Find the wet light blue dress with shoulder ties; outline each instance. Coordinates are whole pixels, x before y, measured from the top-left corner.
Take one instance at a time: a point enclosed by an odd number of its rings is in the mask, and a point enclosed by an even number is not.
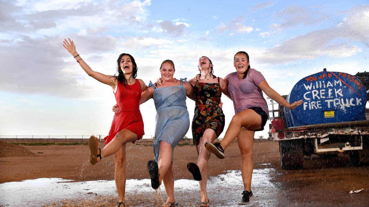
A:
[[[154,103],[156,108],[156,126],[154,141],[154,160],[158,162],[160,141],[165,141],[172,146],[172,162],[173,150],[180,140],[186,135],[190,127],[190,117],[187,111],[186,89],[183,87],[183,81],[180,79],[181,85],[156,88],[154,84]],[[187,81],[186,81],[187,82]],[[188,83],[188,82],[187,82]]]

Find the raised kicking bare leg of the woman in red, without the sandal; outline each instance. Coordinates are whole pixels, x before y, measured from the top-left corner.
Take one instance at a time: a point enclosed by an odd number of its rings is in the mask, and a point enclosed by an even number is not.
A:
[[[137,140],[137,134],[128,129],[123,129],[111,140],[103,149],[101,149],[101,157],[107,157],[117,152],[122,144]],[[99,160],[99,159],[98,159]]]

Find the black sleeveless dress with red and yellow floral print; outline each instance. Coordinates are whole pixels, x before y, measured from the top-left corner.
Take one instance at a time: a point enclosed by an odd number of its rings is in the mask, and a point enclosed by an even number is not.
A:
[[[195,113],[192,120],[192,137],[195,145],[200,144],[200,137],[206,129],[213,129],[217,137],[224,129],[224,113],[219,108],[222,89],[218,83],[199,83],[193,87]]]

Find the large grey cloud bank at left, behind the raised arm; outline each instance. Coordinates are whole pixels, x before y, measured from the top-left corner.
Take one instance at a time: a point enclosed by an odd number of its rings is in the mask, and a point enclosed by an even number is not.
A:
[[[117,43],[110,37],[74,35],[77,51],[84,60],[87,54],[115,49]],[[46,36],[32,39],[22,35],[19,40],[2,45],[0,88],[25,94],[49,94],[77,98],[86,95],[93,87],[84,84],[85,74],[73,57],[62,47],[62,37]],[[63,57],[68,57],[65,62]],[[79,73],[70,73],[74,68]],[[82,73],[81,73],[82,72]],[[83,78],[81,75],[83,74]]]

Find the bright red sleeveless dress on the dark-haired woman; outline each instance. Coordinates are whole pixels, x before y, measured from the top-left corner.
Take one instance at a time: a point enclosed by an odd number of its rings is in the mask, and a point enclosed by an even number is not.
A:
[[[134,84],[127,85],[128,88],[122,84],[118,84],[117,87],[114,95],[120,110],[113,117],[109,135],[104,138],[105,144],[108,144],[123,129],[128,129],[137,134],[137,140],[145,134],[144,121],[139,111],[141,84],[136,79]],[[135,141],[132,141],[132,143],[135,143]]]

